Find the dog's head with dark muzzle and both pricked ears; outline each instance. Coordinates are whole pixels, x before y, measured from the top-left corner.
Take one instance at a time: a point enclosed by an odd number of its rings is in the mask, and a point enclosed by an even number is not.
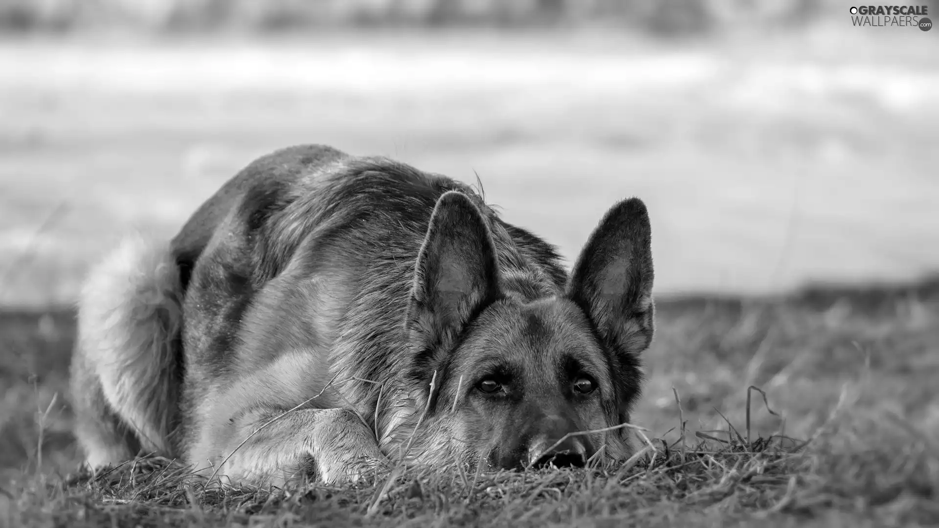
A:
[[[562,291],[508,295],[495,242],[465,194],[443,194],[408,308],[428,419],[491,467],[581,466],[629,454],[639,353],[653,336],[651,227],[638,198],[608,210]],[[433,381],[433,390],[430,389]],[[572,433],[609,429],[590,434]]]

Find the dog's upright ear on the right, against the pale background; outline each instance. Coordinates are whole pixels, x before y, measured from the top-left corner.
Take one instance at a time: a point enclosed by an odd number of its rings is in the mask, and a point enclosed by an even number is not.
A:
[[[654,332],[652,226],[639,198],[616,204],[593,230],[567,284],[567,296],[608,347],[638,354]]]

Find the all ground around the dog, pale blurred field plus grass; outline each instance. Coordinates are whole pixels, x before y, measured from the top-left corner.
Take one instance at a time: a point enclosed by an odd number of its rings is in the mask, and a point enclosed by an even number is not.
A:
[[[939,282],[792,292],[939,269],[939,62],[921,35],[857,35],[0,42],[0,525],[939,523]],[[304,142],[478,172],[568,257],[642,197],[659,302],[639,457],[289,496],[186,489],[159,459],[77,474],[89,262]]]

